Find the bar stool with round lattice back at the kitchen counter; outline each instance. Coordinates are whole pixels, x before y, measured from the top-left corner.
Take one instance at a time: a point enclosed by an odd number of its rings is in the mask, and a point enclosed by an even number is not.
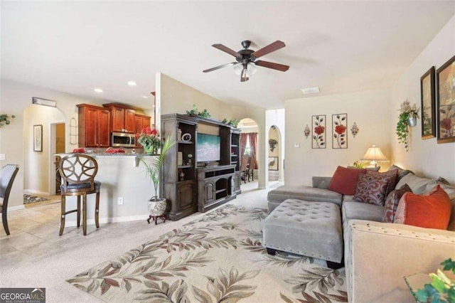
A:
[[[98,172],[98,163],[86,154],[70,154],[64,156],[58,163],[58,171],[62,178],[60,185],[62,195],[62,214],[60,217],[60,233],[65,229],[65,216],[77,212],[77,228],[80,227],[80,197],[82,196],[82,226],[84,235],[87,235],[87,194],[96,193],[95,225],[100,228],[98,213],[100,211],[100,186],[95,181]],[[77,196],[77,208],[66,211],[66,196]]]

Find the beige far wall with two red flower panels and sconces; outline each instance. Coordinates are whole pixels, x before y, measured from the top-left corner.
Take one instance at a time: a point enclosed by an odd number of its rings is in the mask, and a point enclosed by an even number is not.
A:
[[[332,115],[339,113],[348,114],[348,129],[354,122],[360,128],[355,138],[348,131],[348,149],[332,149]],[[326,115],[326,149],[311,149],[311,135],[304,136],[311,115]],[[389,129],[390,90],[287,100],[284,182],[310,185],[311,176],[332,176],[338,165],[353,164],[372,144],[390,159]]]

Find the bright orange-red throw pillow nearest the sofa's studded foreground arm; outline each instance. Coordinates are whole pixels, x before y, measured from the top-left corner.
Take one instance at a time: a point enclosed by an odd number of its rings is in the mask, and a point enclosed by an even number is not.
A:
[[[450,212],[449,195],[438,184],[426,195],[405,193],[398,203],[393,223],[447,229]]]

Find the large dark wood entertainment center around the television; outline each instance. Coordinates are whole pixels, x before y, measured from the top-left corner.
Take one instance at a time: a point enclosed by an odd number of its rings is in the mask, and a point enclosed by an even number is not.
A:
[[[241,193],[239,129],[214,119],[180,114],[162,115],[161,125],[162,137],[176,140],[166,154],[163,174],[170,220],[209,211]],[[219,161],[197,162],[198,126],[218,130]]]

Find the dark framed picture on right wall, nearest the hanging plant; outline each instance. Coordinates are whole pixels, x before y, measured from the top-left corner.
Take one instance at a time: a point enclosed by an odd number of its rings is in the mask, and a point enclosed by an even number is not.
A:
[[[436,115],[434,114],[434,66],[420,77],[420,100],[422,108],[422,139],[436,137]]]

